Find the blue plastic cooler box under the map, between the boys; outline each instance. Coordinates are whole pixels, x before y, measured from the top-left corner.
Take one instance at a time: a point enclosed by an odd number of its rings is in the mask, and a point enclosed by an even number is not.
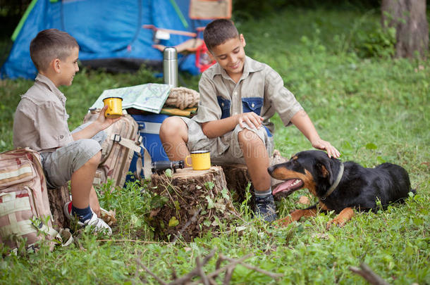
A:
[[[131,115],[133,119],[137,122],[137,125],[139,125],[139,132],[142,136],[142,142],[147,151],[149,152],[149,155],[152,158],[152,161],[159,161],[159,160],[168,160],[168,157],[166,155],[166,152],[164,151],[163,146],[161,145],[160,141],[160,127],[161,122],[163,122],[166,118],[168,118],[168,115],[161,115],[161,114],[152,114],[152,115]],[[133,156],[133,159],[131,160],[130,169],[128,171],[135,172],[136,171],[136,161],[137,161],[137,155],[135,154]],[[141,176],[143,177],[143,172],[141,173]],[[128,175],[127,180],[133,180],[133,178]]]

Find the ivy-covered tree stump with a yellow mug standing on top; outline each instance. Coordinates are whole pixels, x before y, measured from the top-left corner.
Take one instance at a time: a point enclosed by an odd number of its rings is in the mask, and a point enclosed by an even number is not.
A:
[[[161,239],[192,241],[207,232],[216,235],[219,222],[229,223],[239,216],[219,166],[178,169],[171,177],[154,174],[151,186],[154,196],[148,222]]]

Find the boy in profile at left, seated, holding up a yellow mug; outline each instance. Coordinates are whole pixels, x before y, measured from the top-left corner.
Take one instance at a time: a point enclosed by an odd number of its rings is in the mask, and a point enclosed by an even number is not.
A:
[[[67,217],[77,218],[82,227],[111,234],[109,225],[98,217],[100,205],[92,182],[102,158],[100,144],[106,137],[102,130],[116,120],[104,117],[106,106],[97,120],[69,131],[66,96],[58,87],[70,86],[79,70],[79,46],[70,34],[42,30],[32,39],[30,56],[39,73],[16,108],[13,145],[40,153],[49,188],[70,180],[72,202],[64,206]]]

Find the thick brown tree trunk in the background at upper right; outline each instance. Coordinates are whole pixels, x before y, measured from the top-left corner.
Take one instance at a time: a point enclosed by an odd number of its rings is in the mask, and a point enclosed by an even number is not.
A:
[[[429,49],[426,0],[382,0],[382,25],[395,27],[395,57],[421,58]]]

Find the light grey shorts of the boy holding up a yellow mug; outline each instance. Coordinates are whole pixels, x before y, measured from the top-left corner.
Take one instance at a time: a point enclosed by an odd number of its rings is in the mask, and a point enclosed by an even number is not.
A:
[[[87,122],[77,127],[73,132],[78,132],[90,123]],[[67,146],[57,148],[55,151],[41,153],[48,188],[54,189],[66,184],[71,179],[73,172],[102,149],[101,144],[105,139],[106,133],[102,131],[91,139],[78,139]]]

